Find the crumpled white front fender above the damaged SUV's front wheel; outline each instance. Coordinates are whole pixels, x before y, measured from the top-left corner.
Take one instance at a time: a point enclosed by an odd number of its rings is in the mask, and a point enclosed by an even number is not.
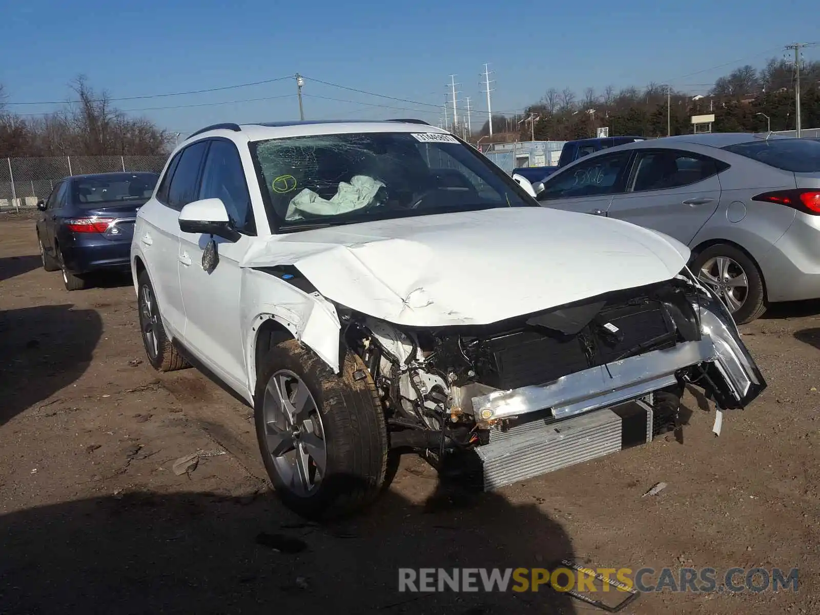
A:
[[[339,315],[335,306],[319,293],[308,294],[265,271],[244,268],[239,317],[246,341],[248,385],[256,386],[256,344],[259,327],[273,319],[294,338],[312,349],[339,373]]]

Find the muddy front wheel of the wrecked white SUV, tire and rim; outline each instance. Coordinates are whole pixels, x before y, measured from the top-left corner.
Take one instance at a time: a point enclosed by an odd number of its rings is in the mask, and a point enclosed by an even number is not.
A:
[[[260,365],[254,402],[262,460],[287,508],[328,520],[376,499],[385,484],[387,430],[358,356],[348,352],[336,375],[297,340],[277,344]]]

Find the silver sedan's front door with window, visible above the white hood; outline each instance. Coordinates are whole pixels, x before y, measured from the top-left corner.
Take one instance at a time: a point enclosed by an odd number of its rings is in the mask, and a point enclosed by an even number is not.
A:
[[[536,199],[544,207],[606,215],[614,194],[623,192],[631,151],[594,156],[557,171]]]

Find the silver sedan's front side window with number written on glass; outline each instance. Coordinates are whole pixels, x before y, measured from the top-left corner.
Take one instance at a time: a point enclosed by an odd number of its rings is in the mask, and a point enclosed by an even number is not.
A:
[[[623,175],[631,152],[611,153],[580,162],[566,171],[558,171],[544,182],[539,201],[555,198],[590,197],[622,192]]]

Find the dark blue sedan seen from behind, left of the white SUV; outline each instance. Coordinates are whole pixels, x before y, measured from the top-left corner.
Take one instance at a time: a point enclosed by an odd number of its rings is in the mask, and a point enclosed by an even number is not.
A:
[[[153,194],[156,173],[73,175],[37,203],[37,239],[46,271],[62,270],[67,290],[83,289],[88,274],[130,271],[137,209]]]

